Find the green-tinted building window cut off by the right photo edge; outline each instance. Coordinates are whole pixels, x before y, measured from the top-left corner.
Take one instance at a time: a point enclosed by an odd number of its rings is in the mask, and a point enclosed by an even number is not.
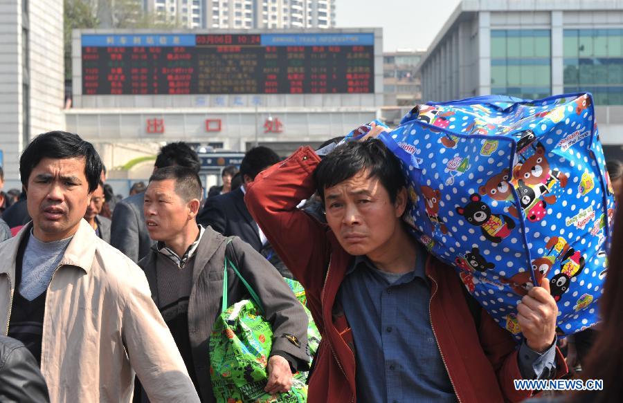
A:
[[[565,92],[590,92],[596,104],[623,105],[623,30],[564,30]]]

